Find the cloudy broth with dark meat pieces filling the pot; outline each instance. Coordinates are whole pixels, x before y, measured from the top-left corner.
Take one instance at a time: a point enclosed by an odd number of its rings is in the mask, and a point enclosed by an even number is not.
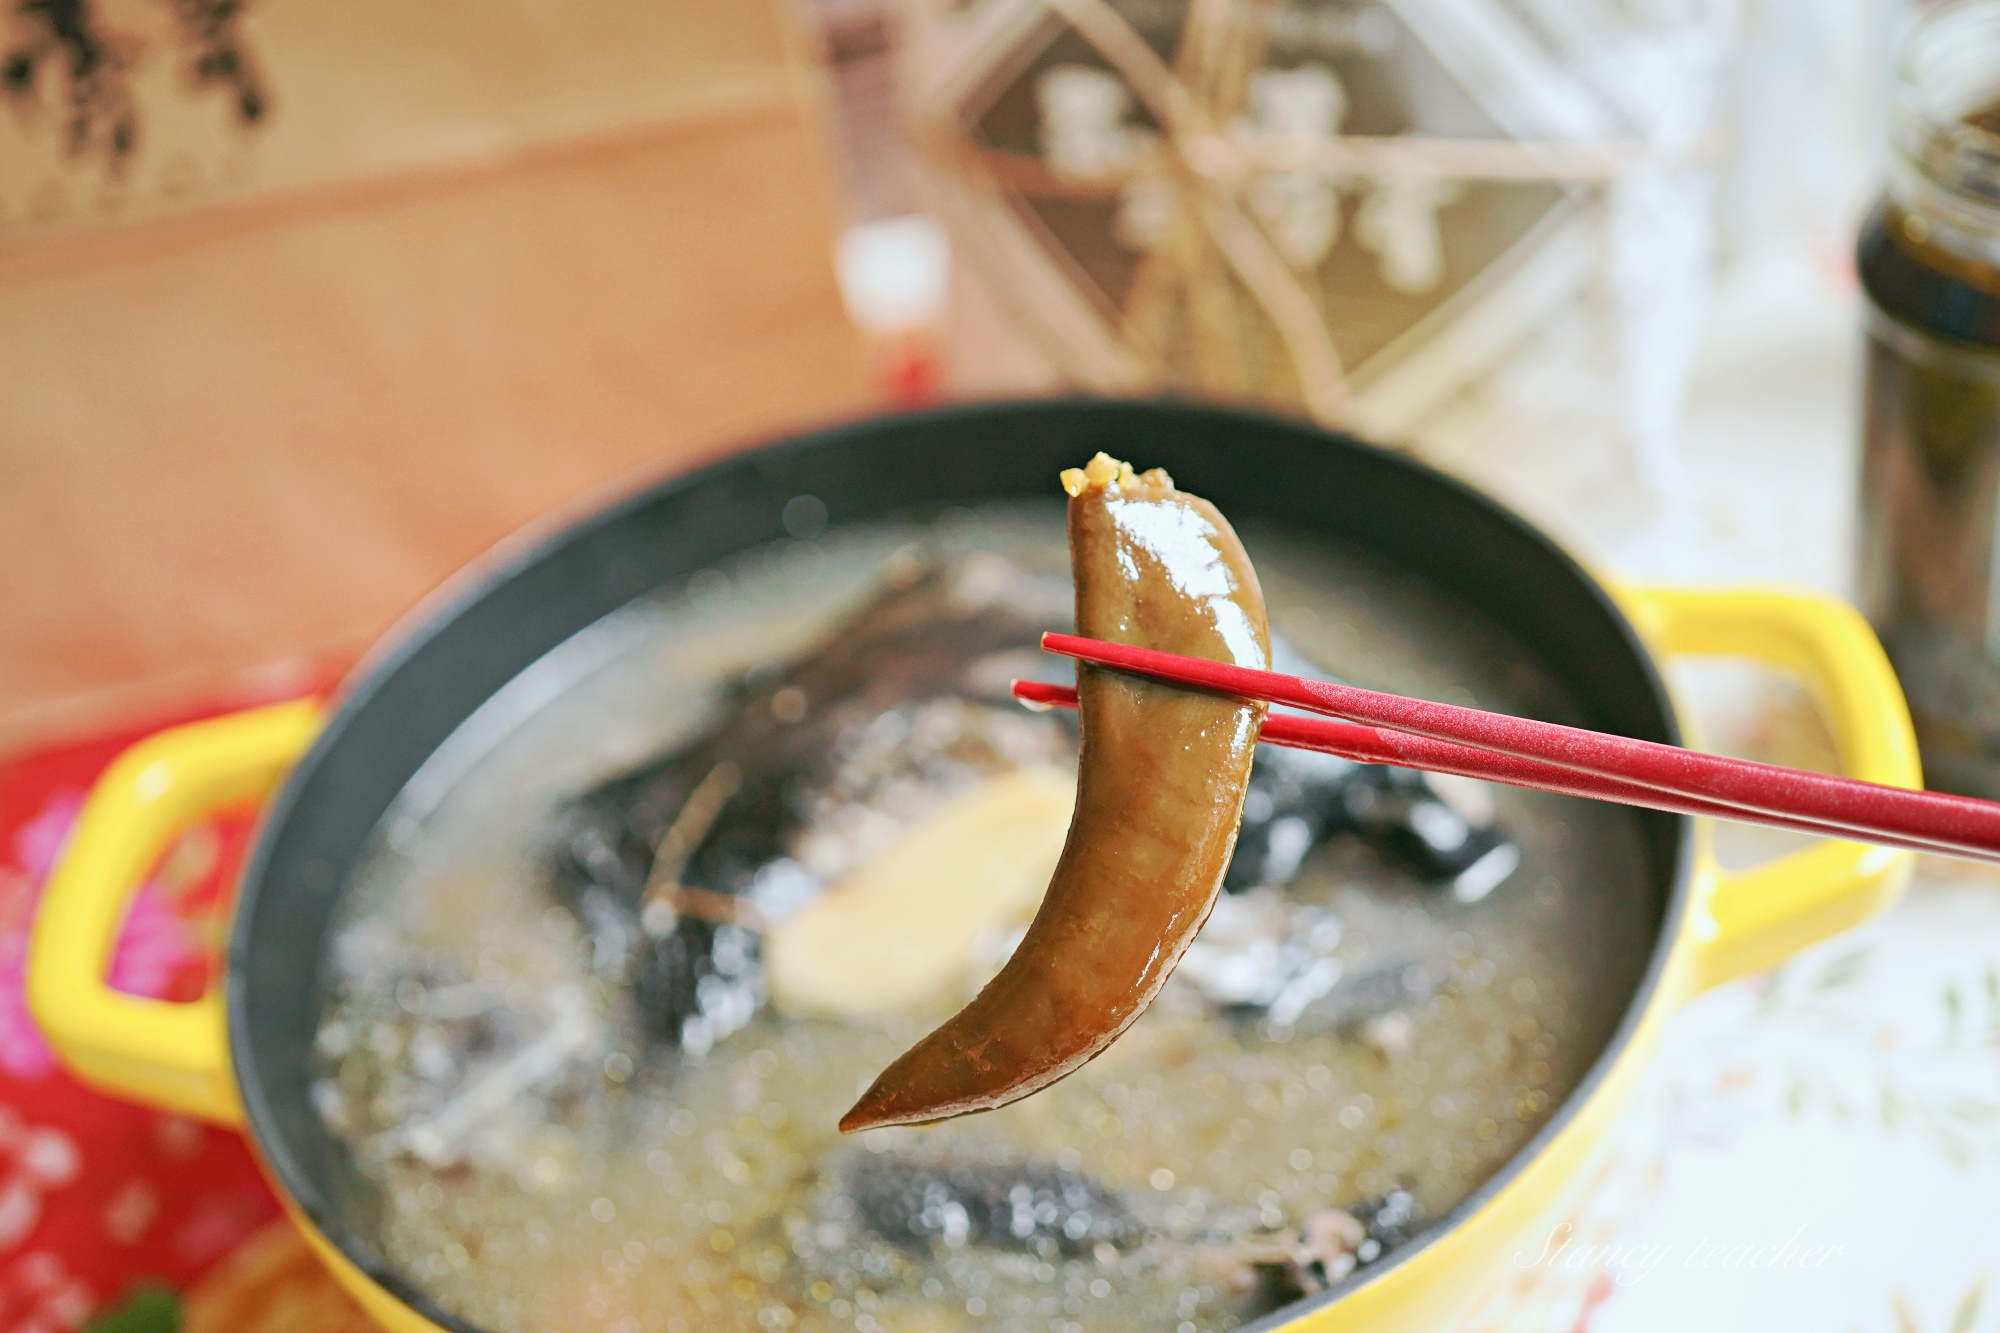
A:
[[[750,552],[552,652],[412,781],[342,907],[316,1097],[346,1215],[416,1289],[496,1333],[1226,1329],[1404,1243],[1574,1087],[1650,943],[1630,815],[1266,747],[1230,893],[1118,1045],[1002,1111],[836,1135],[1008,941],[826,1017],[770,1001],[764,931],[954,795],[1074,765],[1068,719],[1006,701],[1060,671],[1060,524]],[[1294,660],[1568,715],[1464,608],[1244,538]],[[1496,851],[1518,869],[1460,893]]]

